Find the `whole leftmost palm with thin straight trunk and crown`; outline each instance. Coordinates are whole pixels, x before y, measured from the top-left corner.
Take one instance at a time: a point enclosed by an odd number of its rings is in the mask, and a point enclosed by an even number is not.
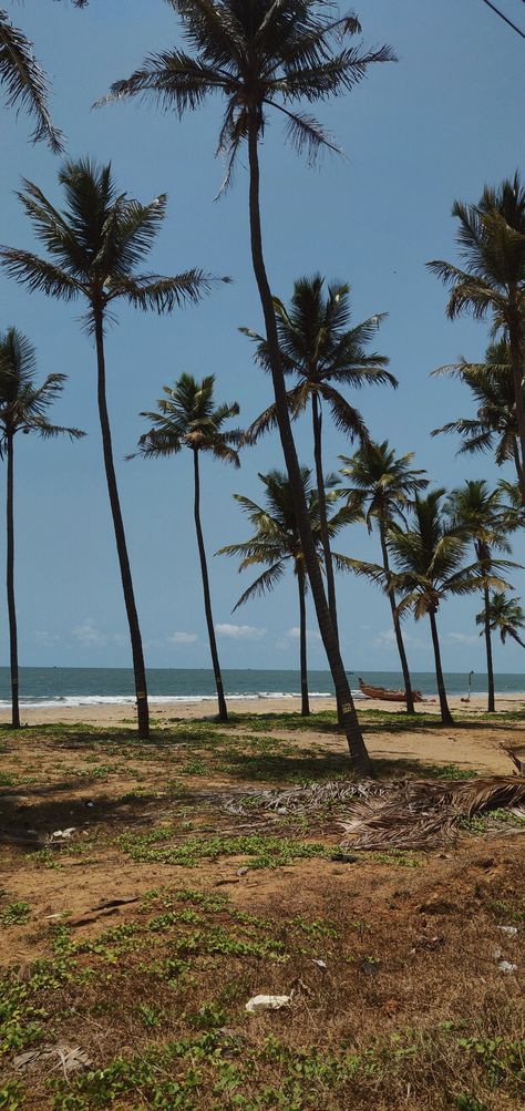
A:
[[[12,725],[20,727],[18,682],[17,608],[14,602],[14,437],[37,432],[42,439],[65,434],[71,440],[84,436],[78,428],[50,424],[47,410],[62,392],[65,374],[48,374],[34,382],[34,348],[16,328],[0,334],[0,458],[7,459],[7,591],[11,665]]]

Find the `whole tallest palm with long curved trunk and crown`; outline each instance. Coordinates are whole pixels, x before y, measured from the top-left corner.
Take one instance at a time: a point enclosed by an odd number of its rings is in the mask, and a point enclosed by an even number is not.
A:
[[[360,32],[354,14],[334,18],[319,0],[170,0],[180,16],[182,33],[194,53],[180,49],[150,56],[130,78],[117,81],[110,99],[139,96],[180,117],[199,108],[213,93],[226,101],[219,151],[228,158],[225,184],[236,154],[248,143],[250,168],[250,236],[252,263],[271,352],[271,374],[279,431],[292,488],[304,561],[317,621],[332,671],[344,728],[357,771],[372,774],[339,650],[324,592],[314,537],[293,441],[286,387],[271,286],[267,278],[261,226],[260,139],[270,109],[286,121],[287,138],[313,161],[324,147],[336,149],[331,137],[310,113],[293,106],[326,100],[350,91],[374,62],[394,60],[387,47],[366,51],[346,43]]]

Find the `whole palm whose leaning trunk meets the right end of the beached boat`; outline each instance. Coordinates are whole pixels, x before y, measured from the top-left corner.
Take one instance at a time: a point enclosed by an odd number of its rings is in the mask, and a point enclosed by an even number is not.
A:
[[[383,440],[382,443],[363,444],[350,459],[347,456],[340,456],[340,459],[346,464],[342,468],[341,473],[352,481],[351,489],[345,491],[349,496],[349,503],[360,506],[363,510],[366,508],[364,519],[368,532],[372,532],[374,522],[377,526],[383,570],[388,577],[391,571],[387,544],[388,529],[392,529],[396,522],[406,524],[405,512],[412,504],[413,498],[420,490],[424,490],[428,486],[428,479],[422,478],[426,472],[414,470],[411,467],[414,459],[413,451],[406,456],[396,456],[387,440]],[[405,684],[406,712],[415,713],[408,661],[394,590],[388,592],[388,600]]]

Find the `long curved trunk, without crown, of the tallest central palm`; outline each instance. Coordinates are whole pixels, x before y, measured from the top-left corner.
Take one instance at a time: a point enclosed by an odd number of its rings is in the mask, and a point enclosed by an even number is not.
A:
[[[258,133],[259,119],[255,110],[252,110],[249,120],[250,234],[253,270],[264,314],[266,340],[270,351],[272,381],[275,394],[275,413],[297,519],[301,546],[312,589],[315,612],[317,614],[319,628],[334,681],[335,695],[342,708],[343,729],[346,734],[350,754],[359,774],[372,775],[372,762],[363,741],[363,734],[361,732],[343,660],[341,659],[341,652],[339,650],[337,637],[332,625],[332,621],[330,620],[330,611],[324,593],[321,568],[319,564],[317,553],[315,551],[315,542],[312,536],[306,500],[304,498],[301,481],[301,470],[293,441],[292,427],[290,423],[286,388],[279,350],[275,312],[273,308],[272,292],[264,266],[262,248]]]

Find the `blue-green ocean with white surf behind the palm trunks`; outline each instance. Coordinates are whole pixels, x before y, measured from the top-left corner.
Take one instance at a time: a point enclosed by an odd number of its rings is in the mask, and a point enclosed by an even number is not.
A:
[[[400,671],[360,671],[363,679],[376,687],[402,687]],[[360,698],[357,672],[349,672],[353,693]],[[435,695],[435,677],[430,671],[412,673],[413,687],[423,694]],[[230,701],[254,698],[299,698],[299,671],[270,671],[249,669],[224,670],[223,682]],[[445,674],[448,694],[464,694],[467,675],[460,672]],[[333,694],[329,671],[310,671],[309,685],[312,698]],[[523,674],[495,675],[496,693],[525,691]],[[486,692],[486,674],[472,677],[473,693]],[[208,702],[215,698],[213,672],[203,669],[153,668],[148,672],[148,690],[155,702]],[[9,668],[0,668],[0,708],[10,705]],[[128,668],[21,668],[20,704],[22,707],[77,707],[133,703],[133,672]]]

